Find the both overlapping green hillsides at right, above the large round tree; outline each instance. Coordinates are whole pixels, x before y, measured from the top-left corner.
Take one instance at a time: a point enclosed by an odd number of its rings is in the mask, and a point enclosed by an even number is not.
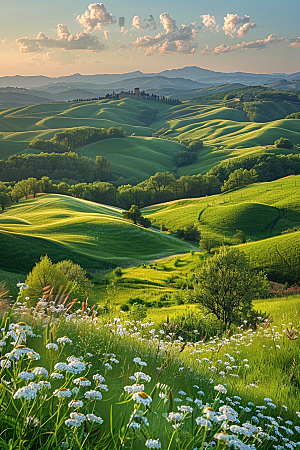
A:
[[[203,199],[154,205],[143,214],[173,231],[197,224],[203,235],[220,243],[235,244],[233,236],[242,230],[248,243],[241,249],[255,267],[264,268],[273,279],[298,281],[300,232],[281,233],[300,227],[299,186],[300,176],[293,176]]]

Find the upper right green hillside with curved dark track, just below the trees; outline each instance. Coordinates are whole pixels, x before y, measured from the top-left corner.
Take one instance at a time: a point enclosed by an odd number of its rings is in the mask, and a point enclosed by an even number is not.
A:
[[[240,229],[247,239],[258,240],[300,226],[299,186],[300,176],[293,176],[202,199],[149,206],[143,214],[170,230],[195,223],[222,239]]]

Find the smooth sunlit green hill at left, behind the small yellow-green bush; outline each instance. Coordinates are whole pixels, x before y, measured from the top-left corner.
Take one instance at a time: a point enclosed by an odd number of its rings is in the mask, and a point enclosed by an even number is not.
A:
[[[189,251],[174,237],[122,219],[119,208],[61,195],[20,203],[0,215],[1,268],[28,272],[41,255],[85,268],[130,264]]]

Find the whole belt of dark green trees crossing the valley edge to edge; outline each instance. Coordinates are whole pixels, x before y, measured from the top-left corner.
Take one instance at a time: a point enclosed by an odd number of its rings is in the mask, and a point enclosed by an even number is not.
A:
[[[74,172],[63,173],[65,175],[76,175],[81,169],[80,174],[83,181],[72,182],[68,181],[69,178],[67,177],[67,181],[61,179],[61,181],[56,182],[48,174],[40,178],[29,176],[14,181],[7,180],[11,173],[17,175],[24,173],[22,165],[16,165],[14,166],[15,172],[7,170],[4,180],[0,181],[0,207],[2,209],[13,202],[18,202],[21,198],[28,198],[31,195],[35,197],[39,192],[70,195],[97,203],[119,206],[124,209],[128,209],[131,205],[137,205],[141,208],[181,198],[219,194],[257,181],[273,181],[284,176],[300,174],[300,155],[269,153],[224,161],[205,175],[183,175],[176,178],[170,172],[157,172],[135,186],[122,184],[117,187],[116,183],[107,180],[110,176],[110,163],[106,158],[97,156],[96,162],[93,163],[89,158],[80,157],[77,153],[71,152],[12,156],[8,161],[0,161],[0,174],[5,173],[5,171],[1,172],[2,162],[8,163],[10,159],[18,161],[25,158],[26,160],[28,157],[33,157],[33,160],[44,157],[46,160],[48,157],[58,158],[56,160],[58,167],[59,163],[68,162],[68,158],[71,158],[72,161],[74,159],[78,165],[77,169],[74,169]],[[29,161],[31,161],[31,158],[29,158]],[[76,164],[74,165],[76,166]],[[84,167],[85,164],[86,167]],[[67,166],[68,164],[66,164]],[[50,170],[50,172],[59,175],[60,169]],[[40,173],[43,174],[44,171],[41,170]],[[90,179],[88,179],[87,174]]]

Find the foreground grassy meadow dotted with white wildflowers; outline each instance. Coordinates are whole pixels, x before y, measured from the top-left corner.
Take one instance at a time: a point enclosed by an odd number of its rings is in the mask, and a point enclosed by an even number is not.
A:
[[[273,317],[255,330],[185,343],[176,317],[157,323],[151,311],[141,322],[68,304],[50,313],[49,300],[34,313],[15,306],[1,323],[1,371],[13,381],[0,385],[3,448],[297,447],[299,346],[288,336],[299,333],[299,298],[258,301]]]

